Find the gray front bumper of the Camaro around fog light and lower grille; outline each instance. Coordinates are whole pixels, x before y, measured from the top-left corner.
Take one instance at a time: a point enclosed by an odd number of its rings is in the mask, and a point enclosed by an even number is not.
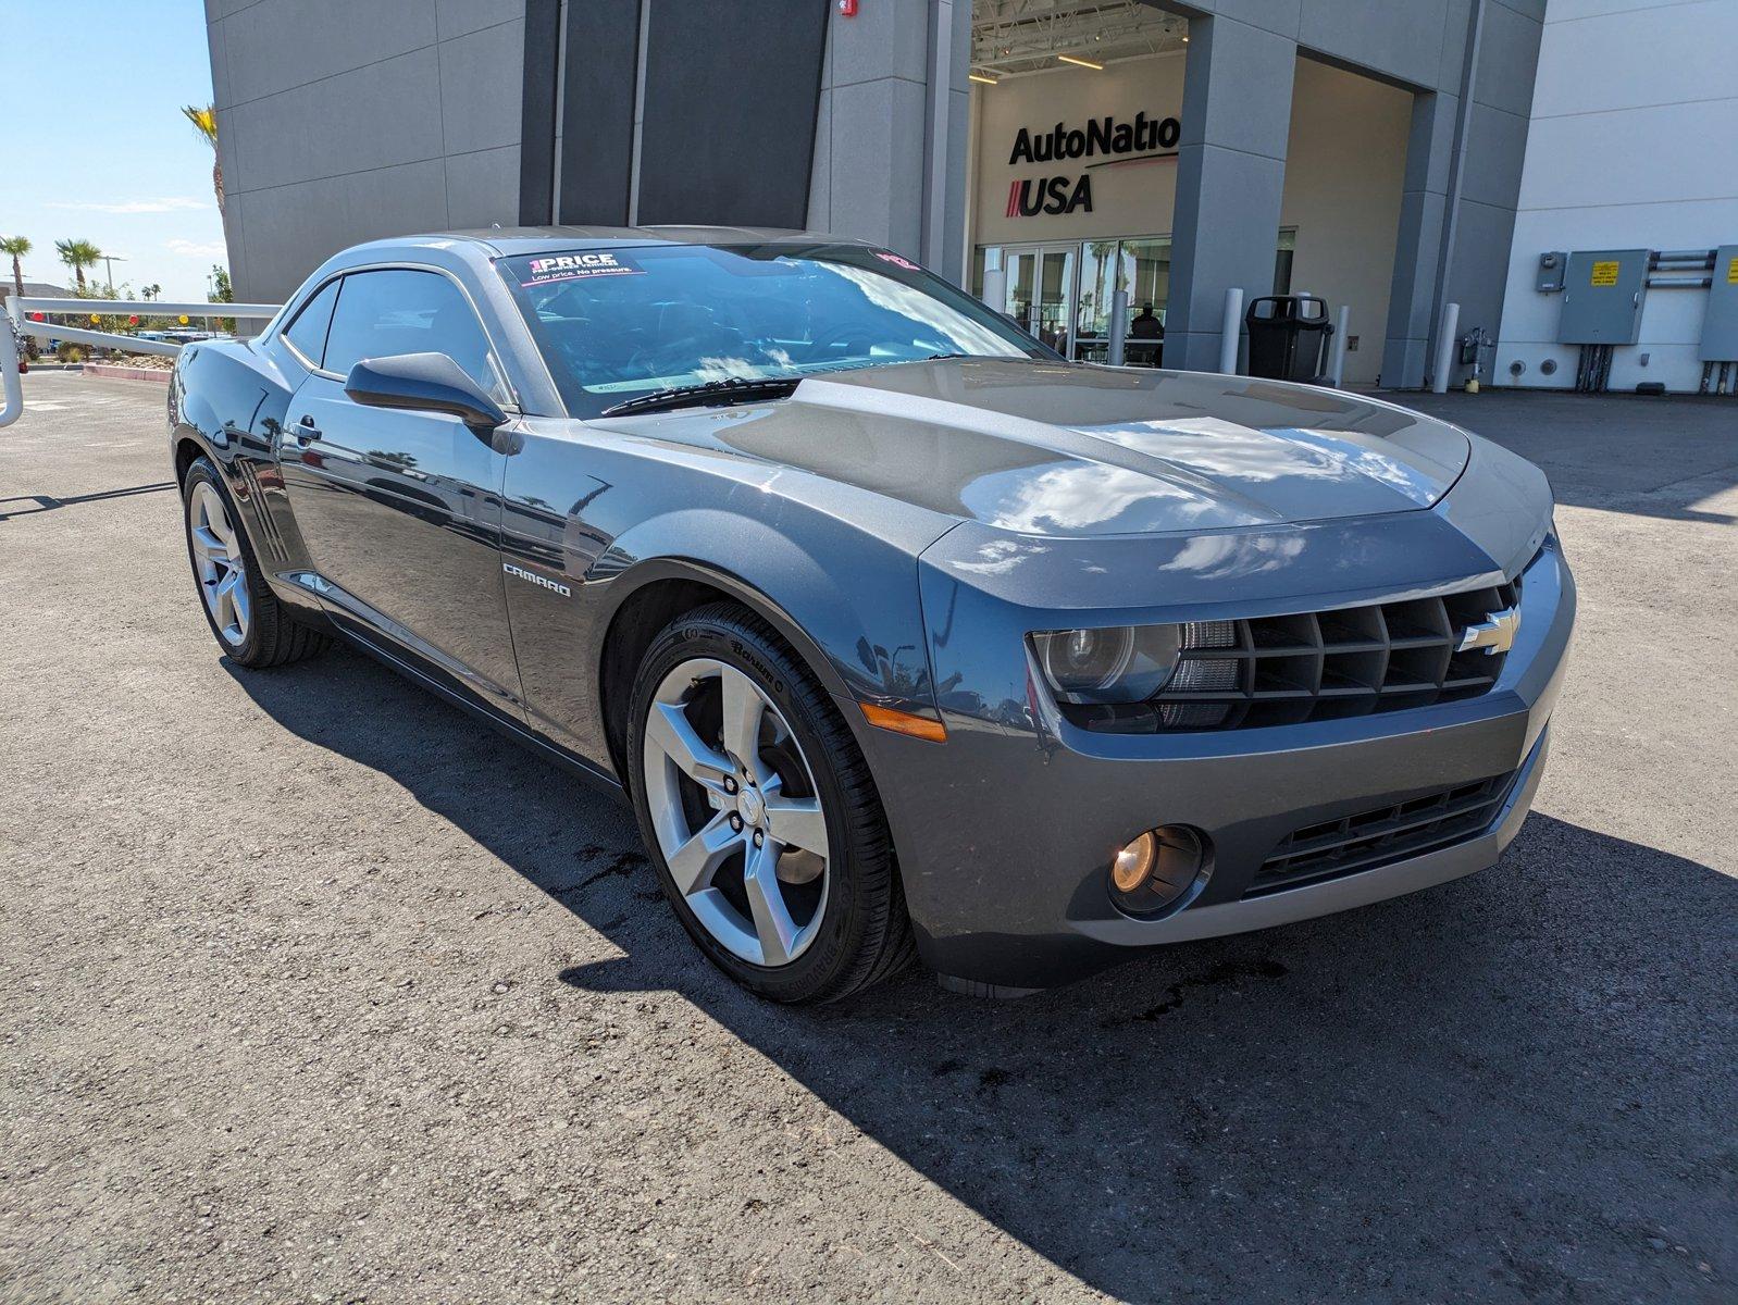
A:
[[[1575,622],[1556,540],[1526,570],[1522,624],[1486,695],[1415,711],[1222,733],[1098,735],[1053,712],[947,711],[945,745],[866,739],[918,945],[942,975],[999,989],[1085,977],[1131,949],[1309,919],[1491,865],[1521,829]],[[1017,693],[1027,692],[1018,686]],[[1293,831],[1514,773],[1483,829],[1420,855],[1246,895]],[[1211,839],[1182,909],[1135,919],[1107,865],[1142,829]]]

